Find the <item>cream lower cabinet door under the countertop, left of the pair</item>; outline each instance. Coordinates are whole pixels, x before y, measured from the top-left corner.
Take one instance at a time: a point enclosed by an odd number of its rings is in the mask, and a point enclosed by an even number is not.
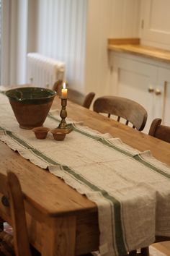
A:
[[[146,108],[148,120],[143,132],[148,133],[153,118],[161,117],[162,113],[162,94],[155,94],[155,88],[158,88],[158,67],[119,56],[114,56],[112,64],[115,94],[130,98]]]

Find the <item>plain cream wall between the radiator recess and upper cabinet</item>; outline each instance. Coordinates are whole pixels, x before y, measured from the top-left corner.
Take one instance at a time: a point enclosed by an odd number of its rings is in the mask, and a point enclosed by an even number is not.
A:
[[[89,0],[86,35],[84,88],[109,95],[108,38],[135,38],[139,35],[140,0]]]

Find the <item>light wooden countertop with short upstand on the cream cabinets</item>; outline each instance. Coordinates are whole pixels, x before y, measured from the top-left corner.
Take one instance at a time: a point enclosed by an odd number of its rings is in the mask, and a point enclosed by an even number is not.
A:
[[[109,38],[107,48],[111,51],[125,52],[170,64],[170,51],[143,46],[139,38]]]

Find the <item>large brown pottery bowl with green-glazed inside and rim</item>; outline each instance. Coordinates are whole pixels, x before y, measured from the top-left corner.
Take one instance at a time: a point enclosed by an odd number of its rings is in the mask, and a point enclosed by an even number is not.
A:
[[[23,129],[41,127],[44,123],[56,92],[47,88],[15,88],[6,91],[14,115]]]

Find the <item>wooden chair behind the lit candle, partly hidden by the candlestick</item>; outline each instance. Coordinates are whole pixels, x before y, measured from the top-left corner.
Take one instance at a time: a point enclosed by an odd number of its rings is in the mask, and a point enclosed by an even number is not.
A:
[[[53,85],[53,90],[55,90],[59,96],[61,95],[62,84],[63,81],[58,80]],[[95,93],[88,93],[87,95],[83,95],[82,93],[79,93],[77,90],[73,90],[71,88],[69,88],[68,90],[68,98],[74,103],[84,106],[84,108],[89,108],[91,106],[91,102],[93,101],[94,96]]]

